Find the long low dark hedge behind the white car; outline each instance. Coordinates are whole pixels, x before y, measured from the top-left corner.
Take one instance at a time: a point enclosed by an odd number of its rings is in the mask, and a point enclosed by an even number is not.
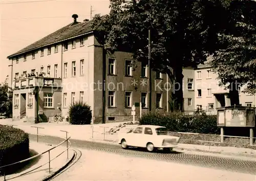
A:
[[[196,112],[194,115],[185,115],[183,112],[167,114],[149,112],[143,115],[139,122],[142,125],[165,126],[169,131],[174,132],[220,133],[220,128],[217,127],[217,116],[206,115],[204,111]]]

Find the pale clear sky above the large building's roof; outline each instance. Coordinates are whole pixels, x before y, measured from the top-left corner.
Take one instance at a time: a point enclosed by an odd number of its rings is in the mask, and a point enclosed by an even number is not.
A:
[[[10,74],[7,56],[70,24],[108,14],[109,0],[0,0],[0,82]]]

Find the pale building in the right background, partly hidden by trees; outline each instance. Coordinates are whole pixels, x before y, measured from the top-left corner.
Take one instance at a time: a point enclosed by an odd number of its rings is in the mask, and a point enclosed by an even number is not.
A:
[[[211,66],[207,62],[204,65],[198,65],[195,70],[195,108],[202,108],[209,114],[217,114],[216,108],[230,106],[228,95],[229,90],[219,86],[217,74],[211,71]],[[255,105],[254,95],[240,91],[239,100],[243,106]]]

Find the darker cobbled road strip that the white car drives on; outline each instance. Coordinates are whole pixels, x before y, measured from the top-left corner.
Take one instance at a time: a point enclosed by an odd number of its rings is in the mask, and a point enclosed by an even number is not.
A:
[[[36,135],[30,135],[30,139],[36,141]],[[39,136],[39,142],[57,145],[63,139],[51,136]],[[90,141],[70,140],[72,148],[102,151],[106,153],[115,153],[124,156],[142,157],[151,160],[159,160],[173,163],[181,163],[187,165],[194,165],[206,168],[215,168],[227,171],[236,171],[241,173],[256,173],[256,161],[246,161],[238,159],[230,159],[227,157],[187,154],[182,152],[146,152],[138,149],[122,149],[119,145],[108,143],[97,143]]]

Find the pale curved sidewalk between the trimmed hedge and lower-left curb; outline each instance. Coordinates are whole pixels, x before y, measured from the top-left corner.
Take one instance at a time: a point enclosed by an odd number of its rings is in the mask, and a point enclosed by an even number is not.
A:
[[[53,145],[54,146],[54,145]],[[33,153],[33,156],[39,153],[42,153],[44,151],[49,150],[53,146],[46,145],[45,143],[37,143],[37,142],[32,142],[30,141],[30,152]],[[57,155],[59,155],[62,151],[66,149],[66,146],[60,145],[57,148],[54,148],[53,150],[50,151],[50,159],[54,159]],[[22,170],[18,171],[18,173],[14,173],[11,175],[6,175],[6,179],[11,179],[11,180],[42,180],[56,171],[58,171],[60,168],[65,166],[73,157],[74,151],[69,149],[69,159],[67,159],[67,152],[62,153],[59,155],[56,159],[51,161],[50,163],[50,173],[49,173],[49,163],[46,164],[49,161],[49,153],[42,154],[41,156],[33,159],[30,161],[29,164],[25,166]],[[46,164],[46,165],[44,165]],[[30,170],[33,170],[41,165],[44,165],[32,172],[29,172],[27,174],[24,174]],[[18,176],[20,174],[24,174],[22,176],[13,178],[15,176]],[[4,180],[4,176],[0,176],[0,180]]]

